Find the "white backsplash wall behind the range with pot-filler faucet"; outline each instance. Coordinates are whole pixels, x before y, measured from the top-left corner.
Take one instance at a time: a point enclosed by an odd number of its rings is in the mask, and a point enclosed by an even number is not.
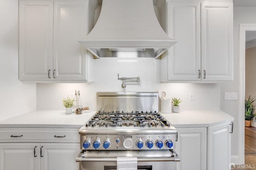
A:
[[[220,85],[196,83],[160,83],[160,60],[154,58],[100,58],[94,60],[94,83],[38,83],[37,109],[61,109],[62,99],[80,90],[82,105],[96,110],[96,92],[123,91],[120,77],[140,77],[127,91],[166,91],[166,97],[183,101],[180,109],[220,109]],[[189,101],[189,93],[195,100]]]

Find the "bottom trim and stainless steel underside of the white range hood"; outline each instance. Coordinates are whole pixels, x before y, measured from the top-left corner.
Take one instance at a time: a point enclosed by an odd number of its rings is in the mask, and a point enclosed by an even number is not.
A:
[[[155,57],[158,58],[177,41],[150,40],[80,40],[97,58],[99,57]]]

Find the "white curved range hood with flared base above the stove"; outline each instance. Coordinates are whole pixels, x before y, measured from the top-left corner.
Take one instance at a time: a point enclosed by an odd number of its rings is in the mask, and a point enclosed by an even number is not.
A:
[[[85,40],[95,57],[159,57],[177,41],[160,26],[152,0],[103,0]]]

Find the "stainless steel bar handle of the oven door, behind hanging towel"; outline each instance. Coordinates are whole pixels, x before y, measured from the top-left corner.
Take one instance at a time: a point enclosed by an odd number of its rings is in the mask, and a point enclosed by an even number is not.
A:
[[[116,158],[85,158],[86,150],[82,150],[80,154],[81,157],[76,158],[76,162],[116,162]],[[138,162],[162,162],[162,161],[172,161],[172,162],[180,162],[180,157],[175,152],[175,150],[170,150],[172,157],[168,158],[137,158]],[[79,155],[80,155],[79,154]],[[78,155],[78,156],[79,156]]]

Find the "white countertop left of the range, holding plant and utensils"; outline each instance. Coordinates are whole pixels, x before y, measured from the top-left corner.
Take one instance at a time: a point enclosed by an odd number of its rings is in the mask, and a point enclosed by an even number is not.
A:
[[[96,111],[66,114],[62,110],[37,110],[0,121],[0,127],[80,128]]]

